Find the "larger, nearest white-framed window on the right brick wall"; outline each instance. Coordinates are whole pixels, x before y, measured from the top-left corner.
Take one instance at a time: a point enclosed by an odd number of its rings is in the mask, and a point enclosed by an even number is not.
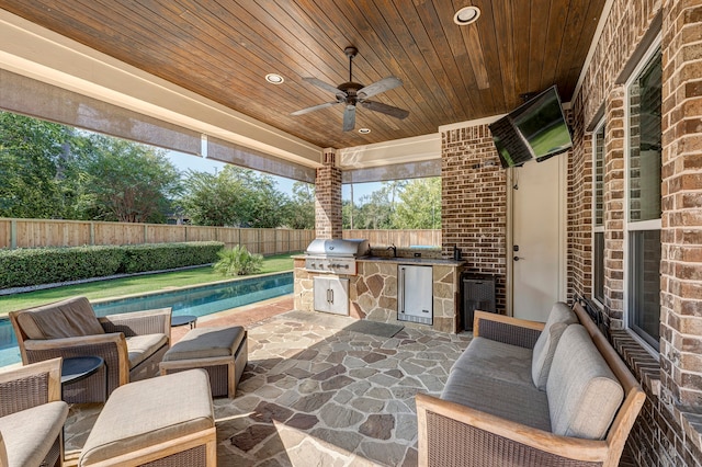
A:
[[[659,44],[626,84],[626,326],[655,350],[660,339],[663,66]]]

